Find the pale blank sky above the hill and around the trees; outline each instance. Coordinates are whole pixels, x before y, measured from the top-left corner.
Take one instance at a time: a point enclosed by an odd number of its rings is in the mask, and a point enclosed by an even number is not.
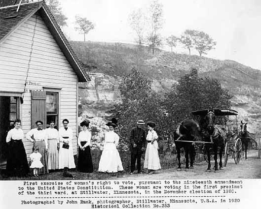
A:
[[[75,15],[95,24],[86,40],[133,43],[135,34],[128,23],[129,14],[148,8],[150,0],[60,0],[68,27],[63,30],[71,40],[83,41],[75,31]],[[163,4],[163,37],[180,36],[186,29],[208,33],[216,49],[206,57],[235,60],[261,69],[261,1],[260,0],[159,0]],[[164,47],[170,50],[169,47]],[[188,53],[181,46],[177,53]],[[198,55],[196,51],[191,54]]]

